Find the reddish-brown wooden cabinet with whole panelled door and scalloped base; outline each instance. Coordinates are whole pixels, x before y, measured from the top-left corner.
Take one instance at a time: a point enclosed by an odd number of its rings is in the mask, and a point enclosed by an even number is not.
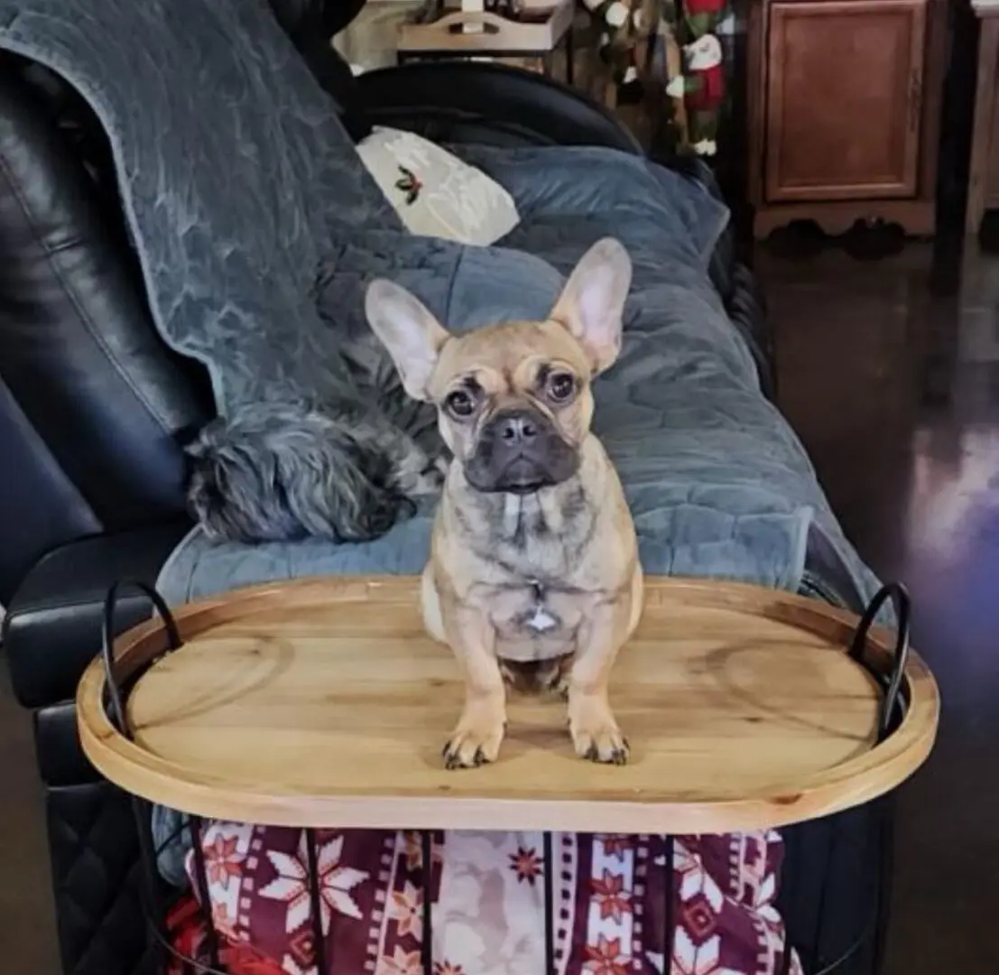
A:
[[[750,202],[795,219],[934,227],[942,0],[761,0],[749,23]]]

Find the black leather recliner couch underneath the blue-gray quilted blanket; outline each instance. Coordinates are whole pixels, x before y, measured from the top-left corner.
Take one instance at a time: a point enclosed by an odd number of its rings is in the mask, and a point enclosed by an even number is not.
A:
[[[355,79],[328,39],[362,4],[272,0],[355,135],[378,122],[453,142],[640,151],[602,108],[513,69],[413,65]],[[14,689],[35,714],[62,965],[135,975],[149,955],[131,811],[82,754],[72,698],[99,647],[107,587],[155,579],[190,524],[181,445],[212,402],[201,368],[153,327],[96,119],[61,79],[7,54],[0,269],[0,603]],[[712,273],[739,327],[758,332],[730,240]],[[765,376],[765,342],[754,348]],[[148,612],[127,598],[119,624]]]

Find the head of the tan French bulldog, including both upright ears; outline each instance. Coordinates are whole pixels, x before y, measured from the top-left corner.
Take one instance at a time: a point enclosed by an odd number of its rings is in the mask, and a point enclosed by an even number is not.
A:
[[[620,348],[631,264],[597,242],[543,322],[452,336],[409,292],[369,286],[366,312],[410,396],[434,403],[441,434],[481,491],[530,493],[571,478],[593,414],[592,378]]]

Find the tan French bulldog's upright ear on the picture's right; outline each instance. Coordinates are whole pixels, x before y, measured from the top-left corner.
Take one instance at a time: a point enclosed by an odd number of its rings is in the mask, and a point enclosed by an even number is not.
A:
[[[621,347],[621,317],[631,287],[631,259],[612,237],[597,241],[572,270],[551,310],[582,346],[600,373],[617,358]]]

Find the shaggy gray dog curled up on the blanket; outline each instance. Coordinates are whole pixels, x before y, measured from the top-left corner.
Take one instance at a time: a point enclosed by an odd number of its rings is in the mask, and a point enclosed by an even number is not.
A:
[[[362,329],[338,344],[330,396],[248,404],[187,448],[188,501],[209,537],[363,541],[439,492],[436,414],[406,395],[384,347]]]

